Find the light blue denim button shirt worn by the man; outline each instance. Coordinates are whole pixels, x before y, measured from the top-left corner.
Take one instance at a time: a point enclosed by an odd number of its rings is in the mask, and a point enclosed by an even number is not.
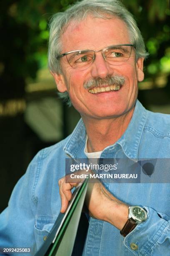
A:
[[[65,176],[65,158],[86,158],[85,141],[80,119],[70,136],[35,156],[0,215],[0,247],[30,247],[31,255],[40,248],[60,212],[58,180]],[[125,133],[101,157],[170,158],[170,115],[152,113],[137,101]],[[170,183],[104,185],[122,202],[145,207],[148,218],[125,238],[110,223],[89,218],[83,256],[170,255]]]

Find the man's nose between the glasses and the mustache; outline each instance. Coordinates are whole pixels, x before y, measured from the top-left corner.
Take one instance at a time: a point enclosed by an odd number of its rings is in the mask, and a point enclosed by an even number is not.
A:
[[[105,61],[102,53],[95,54],[95,60],[91,66],[92,77],[105,78],[112,73],[113,71],[110,70],[109,64]]]

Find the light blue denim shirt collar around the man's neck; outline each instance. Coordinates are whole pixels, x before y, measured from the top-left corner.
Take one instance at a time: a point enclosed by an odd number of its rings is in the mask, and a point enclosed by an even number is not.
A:
[[[116,144],[119,144],[122,147],[122,150],[125,153],[125,155],[128,158],[133,159],[135,161],[138,161],[138,148],[143,128],[145,125],[146,116],[147,110],[137,100],[135,110],[133,112],[133,117],[130,120],[128,128],[126,129],[125,133],[121,136],[121,138],[116,142]],[[80,157],[80,149],[84,149],[85,141],[85,125],[82,122],[82,119],[80,119],[74,131],[65,143],[64,150],[66,154],[68,154],[72,158]]]

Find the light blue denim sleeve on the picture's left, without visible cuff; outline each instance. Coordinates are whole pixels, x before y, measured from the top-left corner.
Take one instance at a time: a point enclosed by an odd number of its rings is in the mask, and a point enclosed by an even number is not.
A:
[[[15,185],[8,207],[0,214],[0,248],[27,247],[30,248],[31,255],[36,251],[34,237],[36,199],[33,195],[36,169],[37,156],[28,166],[25,175]],[[10,253],[10,255],[17,255],[17,253]]]

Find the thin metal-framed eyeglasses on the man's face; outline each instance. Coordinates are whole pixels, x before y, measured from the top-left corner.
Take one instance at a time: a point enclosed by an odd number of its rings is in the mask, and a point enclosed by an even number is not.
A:
[[[128,61],[132,51],[133,44],[119,44],[105,47],[102,51],[102,56],[111,65],[121,65],[124,61]],[[95,52],[93,50],[77,50],[68,51],[58,55],[60,59],[66,56],[68,63],[75,69],[86,69],[95,61]]]

